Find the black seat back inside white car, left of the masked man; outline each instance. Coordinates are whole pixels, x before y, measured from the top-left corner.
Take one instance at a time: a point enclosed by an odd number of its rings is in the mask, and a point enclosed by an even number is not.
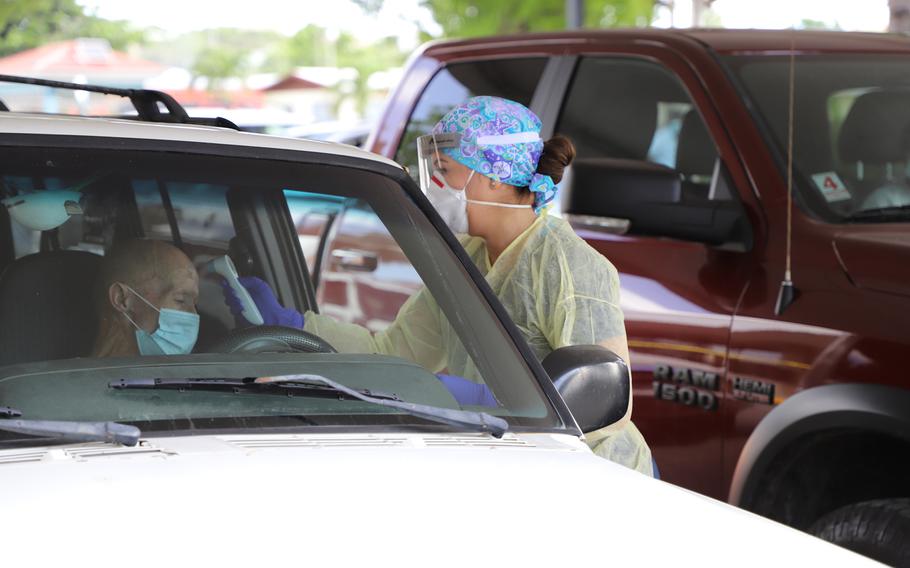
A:
[[[101,257],[82,251],[24,256],[0,275],[0,364],[88,355]]]

